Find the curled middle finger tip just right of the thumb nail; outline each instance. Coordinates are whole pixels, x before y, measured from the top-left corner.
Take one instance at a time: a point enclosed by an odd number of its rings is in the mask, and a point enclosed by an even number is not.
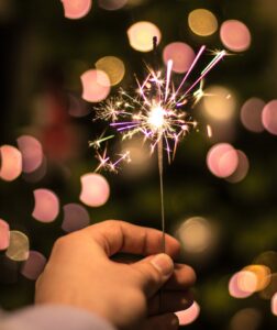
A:
[[[186,290],[196,283],[196,272],[188,265],[174,264],[173,276],[165,284],[168,290]]]

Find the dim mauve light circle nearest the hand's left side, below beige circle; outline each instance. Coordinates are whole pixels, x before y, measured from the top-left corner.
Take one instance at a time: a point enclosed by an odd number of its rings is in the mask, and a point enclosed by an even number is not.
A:
[[[42,274],[45,264],[46,257],[42,253],[31,250],[27,260],[22,265],[21,274],[31,280],[36,280]]]

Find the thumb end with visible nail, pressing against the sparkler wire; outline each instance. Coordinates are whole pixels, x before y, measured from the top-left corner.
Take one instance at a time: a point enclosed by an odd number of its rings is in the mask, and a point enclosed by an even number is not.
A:
[[[132,266],[138,273],[138,285],[147,298],[152,297],[174,272],[174,262],[165,253],[145,257]]]

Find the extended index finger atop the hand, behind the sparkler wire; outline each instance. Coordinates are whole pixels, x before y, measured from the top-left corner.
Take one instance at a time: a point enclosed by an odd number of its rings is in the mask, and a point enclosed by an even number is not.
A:
[[[141,255],[160,252],[163,233],[156,229],[138,227],[123,221],[108,220],[82,230],[89,233],[108,256],[118,252]],[[166,253],[173,258],[179,254],[180,245],[176,239],[166,234]]]

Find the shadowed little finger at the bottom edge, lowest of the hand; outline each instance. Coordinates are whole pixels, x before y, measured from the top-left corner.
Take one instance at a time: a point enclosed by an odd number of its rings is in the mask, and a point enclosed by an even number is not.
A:
[[[166,314],[148,318],[141,327],[142,330],[177,330],[179,321],[175,314]]]

